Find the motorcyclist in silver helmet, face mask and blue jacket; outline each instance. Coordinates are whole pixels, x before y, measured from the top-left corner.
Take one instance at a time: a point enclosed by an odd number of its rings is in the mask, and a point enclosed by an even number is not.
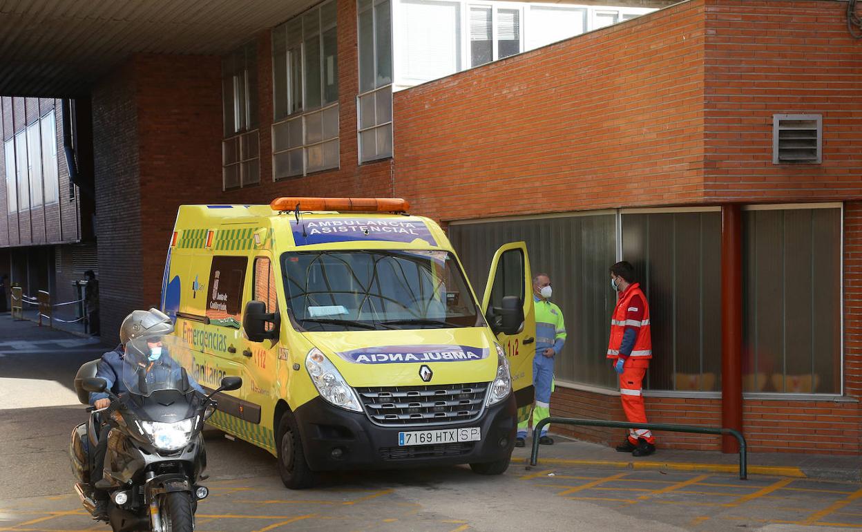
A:
[[[120,326],[120,344],[102,355],[102,360],[99,360],[97,366],[96,377],[105,379],[107,383],[105,392],[92,392],[90,394],[90,404],[101,410],[110,405],[109,394],[110,390],[114,395],[120,395],[128,391],[122,379],[123,364],[127,356],[129,342],[136,338],[146,337],[147,353],[134,353],[135,360],[145,357],[151,366],[158,364],[162,371],[179,372],[181,366],[176,360],[173,360],[170,354],[167,354],[166,349],[162,346],[160,337],[170,335],[173,332],[173,323],[171,318],[166,314],[156,309],[150,310],[134,310],[126,316]],[[141,342],[136,342],[135,345]],[[196,391],[204,393],[203,388],[197,384],[195,379],[188,375],[188,381],[192,388]],[[91,474],[91,483],[95,488],[96,498],[96,518],[108,518],[108,491],[110,487],[108,480],[103,479],[105,451],[108,448],[108,434],[110,426],[103,421],[99,432],[98,445],[96,452],[93,455],[93,473]]]

